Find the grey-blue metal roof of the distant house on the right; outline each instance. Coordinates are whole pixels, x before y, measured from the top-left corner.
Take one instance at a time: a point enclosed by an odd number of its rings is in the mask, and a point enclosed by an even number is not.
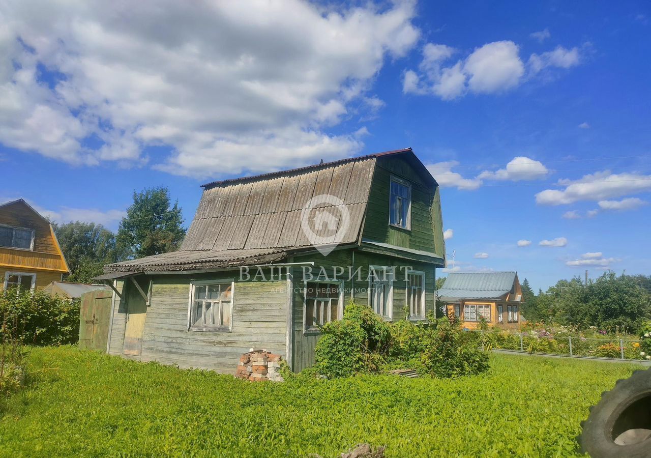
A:
[[[442,302],[460,299],[499,300],[510,293],[516,272],[452,272],[436,294]]]

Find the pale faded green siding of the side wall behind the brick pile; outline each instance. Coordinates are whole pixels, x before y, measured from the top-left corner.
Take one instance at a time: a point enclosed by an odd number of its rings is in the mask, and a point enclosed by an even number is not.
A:
[[[251,347],[285,355],[288,293],[286,279],[238,281],[239,272],[201,276],[151,276],[151,305],[147,308],[142,361],[201,367],[234,373],[238,360]],[[235,279],[232,332],[188,330],[191,279]],[[116,304],[111,353],[122,352],[124,313]]]

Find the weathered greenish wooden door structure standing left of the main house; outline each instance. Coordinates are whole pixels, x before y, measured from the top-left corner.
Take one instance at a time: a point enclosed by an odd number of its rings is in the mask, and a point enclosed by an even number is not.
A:
[[[112,297],[111,291],[104,290],[81,294],[79,347],[106,351]]]

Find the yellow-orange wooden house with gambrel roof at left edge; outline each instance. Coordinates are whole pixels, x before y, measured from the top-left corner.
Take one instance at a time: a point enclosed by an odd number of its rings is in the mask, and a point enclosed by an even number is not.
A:
[[[23,199],[0,203],[0,288],[43,289],[69,273],[49,221]]]

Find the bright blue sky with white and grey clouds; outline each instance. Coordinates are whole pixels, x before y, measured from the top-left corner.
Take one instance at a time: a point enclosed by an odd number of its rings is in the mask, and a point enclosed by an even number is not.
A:
[[[0,7],[0,200],[116,229],[165,185],[189,223],[210,179],[412,147],[456,269],[651,273],[646,2],[37,3]]]

